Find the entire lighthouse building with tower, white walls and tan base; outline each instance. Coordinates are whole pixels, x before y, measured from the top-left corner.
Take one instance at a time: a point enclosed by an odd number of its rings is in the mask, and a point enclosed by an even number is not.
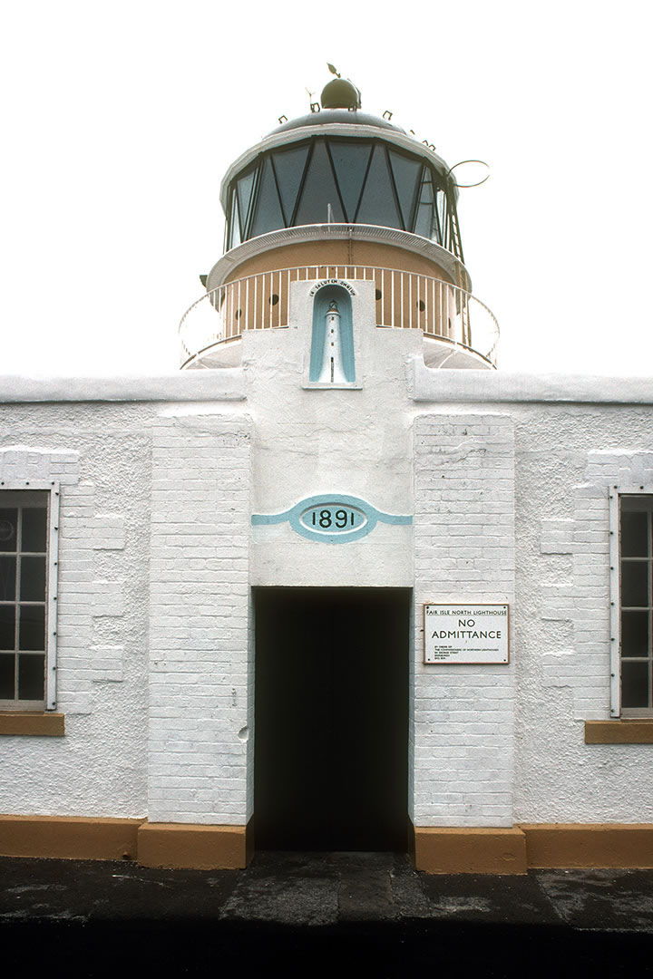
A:
[[[646,866],[653,382],[497,371],[455,167],[309,108],[181,370],[2,379],[0,851]]]

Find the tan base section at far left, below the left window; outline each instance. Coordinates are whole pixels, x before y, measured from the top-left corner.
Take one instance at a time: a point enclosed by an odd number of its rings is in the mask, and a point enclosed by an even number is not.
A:
[[[133,860],[141,819],[0,816],[3,857]]]

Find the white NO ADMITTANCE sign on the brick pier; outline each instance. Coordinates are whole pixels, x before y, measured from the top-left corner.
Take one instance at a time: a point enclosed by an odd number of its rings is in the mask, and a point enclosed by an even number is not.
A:
[[[508,663],[508,606],[424,606],[425,663]]]

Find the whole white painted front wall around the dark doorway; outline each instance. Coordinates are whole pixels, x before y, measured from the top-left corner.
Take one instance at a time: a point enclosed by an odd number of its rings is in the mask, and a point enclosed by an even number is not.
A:
[[[651,747],[583,742],[609,718],[608,488],[653,482],[653,383],[428,370],[357,283],[360,389],[306,390],[303,286],[242,369],[0,381],[2,473],[62,485],[67,716],[2,739],[0,811],[242,824],[250,586],[414,583],[416,824],[653,821]],[[331,491],[414,527],[250,526]],[[424,666],[422,603],[469,598],[510,602],[510,665]]]

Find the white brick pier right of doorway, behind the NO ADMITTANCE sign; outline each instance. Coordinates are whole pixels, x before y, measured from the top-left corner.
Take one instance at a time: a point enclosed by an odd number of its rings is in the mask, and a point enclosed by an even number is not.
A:
[[[424,665],[422,607],[512,604],[513,422],[486,413],[420,415],[414,445],[413,821],[511,825],[514,665]]]

